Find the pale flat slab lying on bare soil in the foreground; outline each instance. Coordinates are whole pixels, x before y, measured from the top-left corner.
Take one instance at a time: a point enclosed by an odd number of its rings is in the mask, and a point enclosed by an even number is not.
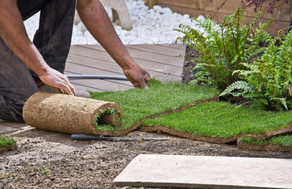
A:
[[[113,180],[117,186],[292,188],[292,159],[188,155],[134,158]]]

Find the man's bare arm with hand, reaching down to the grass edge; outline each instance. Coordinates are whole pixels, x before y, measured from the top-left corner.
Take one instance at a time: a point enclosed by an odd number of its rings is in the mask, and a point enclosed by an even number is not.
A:
[[[99,0],[78,0],[77,11],[90,34],[121,66],[134,87],[148,88],[149,73],[133,61]]]

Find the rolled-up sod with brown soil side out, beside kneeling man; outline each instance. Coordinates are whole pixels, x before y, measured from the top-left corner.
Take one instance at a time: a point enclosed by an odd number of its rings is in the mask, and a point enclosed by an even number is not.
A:
[[[100,134],[96,130],[98,125],[122,125],[123,110],[114,102],[38,92],[25,102],[23,119],[31,127],[42,130]]]

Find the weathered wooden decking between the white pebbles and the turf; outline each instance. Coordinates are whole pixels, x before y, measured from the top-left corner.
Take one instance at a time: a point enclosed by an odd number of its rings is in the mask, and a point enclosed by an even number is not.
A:
[[[181,44],[126,45],[134,61],[151,77],[163,81],[180,81],[186,47]],[[65,74],[95,74],[123,76],[120,66],[101,45],[72,45]],[[100,79],[70,79],[75,90],[116,91],[132,88],[129,81]]]

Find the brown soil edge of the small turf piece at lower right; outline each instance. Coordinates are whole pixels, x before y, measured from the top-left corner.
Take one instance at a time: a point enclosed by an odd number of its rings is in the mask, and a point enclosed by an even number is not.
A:
[[[270,152],[292,152],[292,146],[280,146],[280,145],[258,145],[258,144],[247,144],[245,142],[237,141],[238,148],[246,150],[256,151],[270,151]]]

